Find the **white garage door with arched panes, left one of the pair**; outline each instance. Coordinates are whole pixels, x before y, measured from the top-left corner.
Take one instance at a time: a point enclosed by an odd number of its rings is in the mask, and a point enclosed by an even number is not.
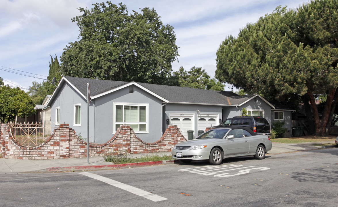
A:
[[[170,114],[170,124],[177,125],[182,135],[188,139],[187,131],[194,130],[193,118],[194,114]]]

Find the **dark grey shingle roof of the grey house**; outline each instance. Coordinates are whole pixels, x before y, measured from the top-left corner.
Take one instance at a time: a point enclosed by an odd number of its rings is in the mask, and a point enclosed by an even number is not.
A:
[[[112,90],[129,82],[96,80],[88,78],[77,78],[64,76],[70,84],[74,85],[84,96],[87,94],[87,83],[90,84],[90,95],[96,96],[101,93]],[[178,103],[199,103],[211,105],[238,105],[254,95],[239,96],[230,91],[204,90],[197,88],[156,85],[149,83],[138,83],[147,88],[156,95],[168,100],[169,102]]]

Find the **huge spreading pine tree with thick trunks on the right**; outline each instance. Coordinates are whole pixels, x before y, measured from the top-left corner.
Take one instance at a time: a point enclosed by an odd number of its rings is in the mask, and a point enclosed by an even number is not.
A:
[[[248,24],[220,45],[216,78],[276,100],[302,96],[315,134],[326,135],[338,101],[337,10],[337,0],[315,0]],[[320,94],[327,94],[321,117]]]

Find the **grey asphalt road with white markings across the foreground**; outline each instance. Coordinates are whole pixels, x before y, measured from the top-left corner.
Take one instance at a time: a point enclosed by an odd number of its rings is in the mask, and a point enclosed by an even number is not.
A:
[[[1,173],[1,206],[337,206],[338,149],[70,173]]]

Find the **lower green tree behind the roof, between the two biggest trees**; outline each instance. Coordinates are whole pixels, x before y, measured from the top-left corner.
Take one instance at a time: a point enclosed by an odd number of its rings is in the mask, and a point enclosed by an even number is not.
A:
[[[173,72],[170,81],[170,84],[175,86],[224,90],[224,84],[214,78],[210,78],[210,75],[201,67],[192,67],[189,71],[180,67],[178,71]]]

